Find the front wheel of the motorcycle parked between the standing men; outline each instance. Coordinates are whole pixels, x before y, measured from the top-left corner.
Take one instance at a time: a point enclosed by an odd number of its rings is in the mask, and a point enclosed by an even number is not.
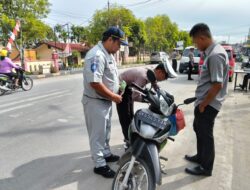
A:
[[[130,159],[124,160],[116,172],[112,184],[112,190],[155,190],[156,184],[149,168],[144,160],[138,158],[131,170],[131,173],[126,184],[127,187],[122,187],[122,181],[129,167]]]

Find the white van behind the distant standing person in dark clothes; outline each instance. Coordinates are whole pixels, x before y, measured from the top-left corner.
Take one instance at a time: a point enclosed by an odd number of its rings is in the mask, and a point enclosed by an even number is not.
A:
[[[179,72],[183,73],[184,71],[188,71],[188,62],[189,62],[189,52],[190,49],[194,48],[194,66],[193,66],[193,73],[198,73],[199,71],[199,61],[200,61],[200,51],[195,48],[194,46],[186,47],[183,51],[183,54],[180,59],[180,66],[179,66]]]

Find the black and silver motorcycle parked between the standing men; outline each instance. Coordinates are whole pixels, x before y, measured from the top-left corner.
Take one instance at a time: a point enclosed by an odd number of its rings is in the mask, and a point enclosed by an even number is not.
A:
[[[159,156],[159,152],[168,139],[174,140],[170,132],[176,127],[173,118],[178,106],[190,104],[196,99],[189,98],[176,105],[174,97],[157,86],[154,73],[149,71],[147,76],[154,91],[152,87],[142,89],[132,84],[133,90],[141,93],[149,107],[138,110],[134,115],[129,129],[130,147],[118,161],[119,169],[112,190],[155,190],[156,185],[161,185],[160,158],[163,157]]]

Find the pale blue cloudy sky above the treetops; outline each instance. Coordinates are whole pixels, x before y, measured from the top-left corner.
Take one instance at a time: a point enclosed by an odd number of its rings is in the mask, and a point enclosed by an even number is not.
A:
[[[49,0],[51,26],[67,22],[86,26],[94,12],[108,0]],[[166,14],[179,29],[190,30],[198,22],[209,25],[216,41],[243,42],[250,28],[250,0],[109,0],[130,9],[137,18]]]

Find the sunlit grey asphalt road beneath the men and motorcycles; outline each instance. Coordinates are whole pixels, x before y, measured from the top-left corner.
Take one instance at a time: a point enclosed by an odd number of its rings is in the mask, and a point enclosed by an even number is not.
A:
[[[177,103],[192,97],[197,83],[186,75],[161,82]],[[88,136],[81,105],[82,75],[34,81],[29,92],[0,97],[0,190],[108,190],[112,180],[93,174]],[[246,190],[250,186],[250,92],[229,95],[215,123],[216,159],[212,177],[190,176],[193,164],[183,156],[195,153],[193,106],[184,106],[187,127],[169,142],[161,155],[160,190]],[[147,105],[136,103],[135,108]],[[115,108],[115,107],[114,107]],[[111,146],[123,153],[122,133],[114,109]],[[116,164],[111,167],[116,169]]]

